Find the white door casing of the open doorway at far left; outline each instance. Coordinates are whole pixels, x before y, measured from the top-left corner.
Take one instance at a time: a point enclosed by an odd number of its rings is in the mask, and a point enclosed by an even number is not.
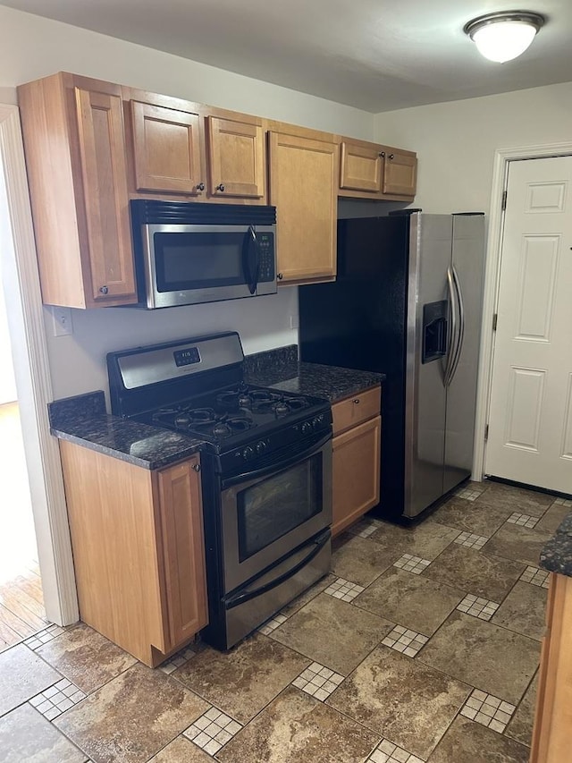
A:
[[[0,203],[8,211],[8,225],[0,227],[4,294],[46,617],[67,625],[79,619],[78,598],[62,463],[47,417],[54,398],[18,106],[0,104],[0,173]]]

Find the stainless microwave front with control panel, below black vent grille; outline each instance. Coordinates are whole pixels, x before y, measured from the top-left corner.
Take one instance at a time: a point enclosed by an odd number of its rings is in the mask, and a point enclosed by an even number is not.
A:
[[[272,225],[143,225],[147,307],[276,292]]]

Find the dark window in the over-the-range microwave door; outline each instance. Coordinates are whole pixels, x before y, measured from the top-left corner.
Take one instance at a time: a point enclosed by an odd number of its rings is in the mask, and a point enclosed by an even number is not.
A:
[[[244,233],[155,233],[157,291],[179,292],[245,283]]]

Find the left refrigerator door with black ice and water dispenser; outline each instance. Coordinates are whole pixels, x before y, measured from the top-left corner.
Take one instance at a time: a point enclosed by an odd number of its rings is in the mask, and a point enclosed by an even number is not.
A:
[[[407,517],[415,517],[443,492],[451,233],[450,215],[412,216],[403,512]]]

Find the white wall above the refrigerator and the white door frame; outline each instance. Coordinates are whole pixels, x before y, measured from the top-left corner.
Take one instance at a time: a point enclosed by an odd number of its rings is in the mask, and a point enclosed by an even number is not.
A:
[[[415,207],[483,211],[495,150],[569,141],[572,82],[377,114],[376,140],[417,152]]]

